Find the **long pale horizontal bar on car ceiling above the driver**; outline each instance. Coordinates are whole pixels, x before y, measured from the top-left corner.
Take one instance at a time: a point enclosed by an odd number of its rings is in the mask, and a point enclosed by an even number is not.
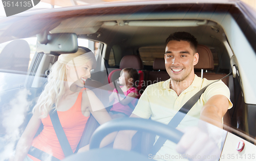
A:
[[[154,26],[154,27],[187,27],[206,25],[207,20],[146,20],[146,21],[129,21],[129,26]]]

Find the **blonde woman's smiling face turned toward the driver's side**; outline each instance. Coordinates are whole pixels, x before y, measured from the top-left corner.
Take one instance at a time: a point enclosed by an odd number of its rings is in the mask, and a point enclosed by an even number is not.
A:
[[[83,87],[86,80],[91,77],[92,62],[88,61],[82,66],[66,66],[67,79],[69,83],[75,83],[79,87]]]

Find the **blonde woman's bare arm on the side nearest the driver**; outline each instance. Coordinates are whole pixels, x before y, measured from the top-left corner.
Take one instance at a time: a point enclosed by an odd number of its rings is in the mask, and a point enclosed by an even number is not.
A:
[[[98,121],[98,123],[101,125],[105,122],[108,122],[112,120],[109,113],[105,110],[103,104],[98,99],[98,97],[90,90],[87,90],[83,94],[83,99],[88,100],[87,102],[90,102],[88,107],[89,111],[93,115],[93,117]],[[96,110],[100,109],[100,110]],[[106,136],[100,143],[100,148],[104,147],[106,145],[109,145],[115,140],[115,137],[117,135],[117,132],[112,132],[108,136]],[[89,145],[84,146],[78,150],[78,152],[89,150]]]

